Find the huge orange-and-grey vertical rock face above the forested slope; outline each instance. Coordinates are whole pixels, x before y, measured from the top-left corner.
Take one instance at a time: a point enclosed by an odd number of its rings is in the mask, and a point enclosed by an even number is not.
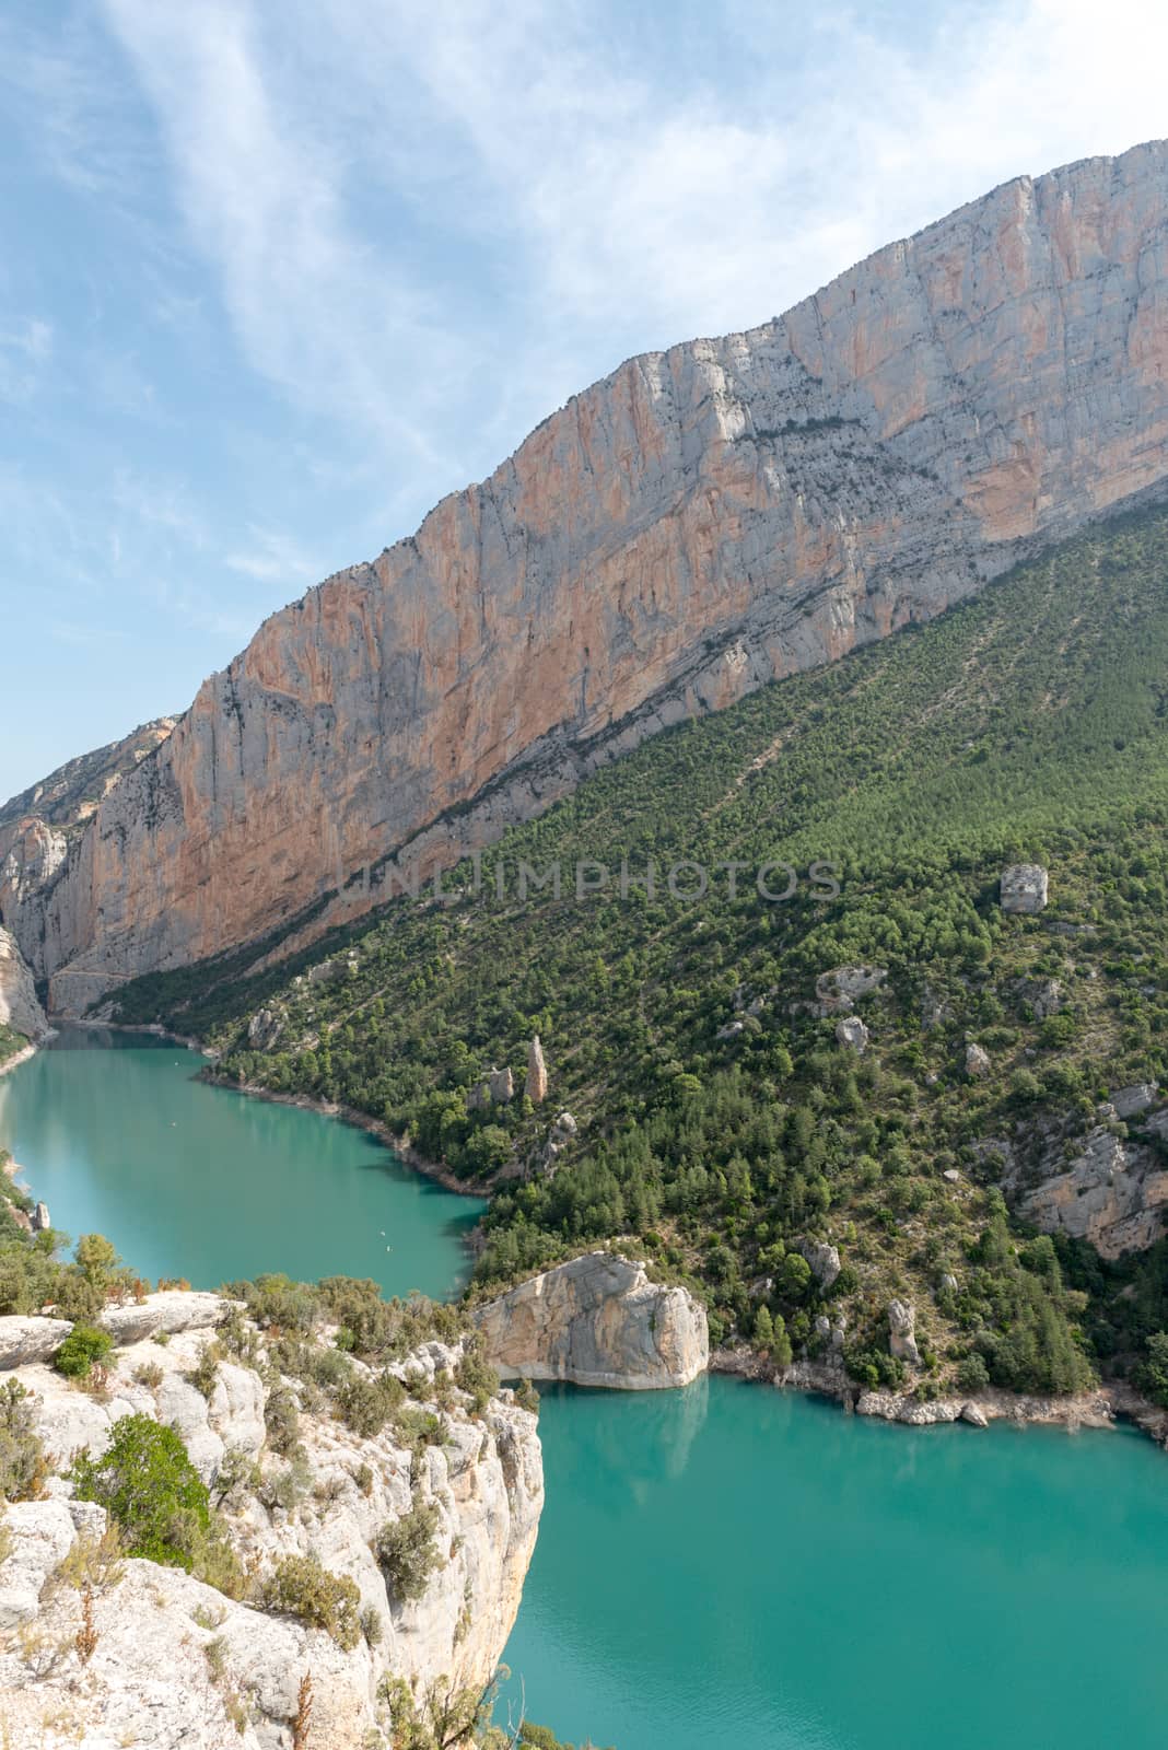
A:
[[[61,1012],[334,889],[339,922],[386,898],[386,859],[446,864],[1166,476],[1152,144],[1019,177],[782,318],[574,397],[266,621],[10,922]]]

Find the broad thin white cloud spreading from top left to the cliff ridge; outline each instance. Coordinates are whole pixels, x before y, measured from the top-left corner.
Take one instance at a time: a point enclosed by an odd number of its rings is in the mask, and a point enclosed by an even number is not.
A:
[[[428,499],[628,350],[761,322],[998,180],[1165,121],[1151,0],[1107,30],[1086,0],[939,7],[916,44],[857,7],[797,60],[789,16],[740,0],[713,14],[731,86],[563,0],[105,12],[247,357]]]

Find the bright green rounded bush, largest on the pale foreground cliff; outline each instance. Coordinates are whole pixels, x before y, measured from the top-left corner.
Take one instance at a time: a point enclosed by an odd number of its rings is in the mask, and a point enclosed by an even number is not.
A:
[[[128,1556],[192,1572],[198,1544],[212,1528],[210,1498],[173,1428],[122,1416],[107,1451],[100,1458],[80,1452],[72,1477],[80,1502],[100,1502],[117,1521]]]

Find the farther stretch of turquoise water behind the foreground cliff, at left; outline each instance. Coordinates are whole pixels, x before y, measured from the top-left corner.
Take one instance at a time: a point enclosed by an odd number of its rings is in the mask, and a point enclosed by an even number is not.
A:
[[[479,1200],[351,1125],[196,1082],[201,1068],[150,1034],[65,1029],[0,1076],[0,1146],[56,1227],[105,1234],[152,1279],[285,1270],[456,1290]]]

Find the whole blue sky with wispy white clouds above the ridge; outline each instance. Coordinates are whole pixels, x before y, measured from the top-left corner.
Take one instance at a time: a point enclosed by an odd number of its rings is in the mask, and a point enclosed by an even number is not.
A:
[[[7,0],[0,796],[633,352],[1168,131],[1159,0]]]

